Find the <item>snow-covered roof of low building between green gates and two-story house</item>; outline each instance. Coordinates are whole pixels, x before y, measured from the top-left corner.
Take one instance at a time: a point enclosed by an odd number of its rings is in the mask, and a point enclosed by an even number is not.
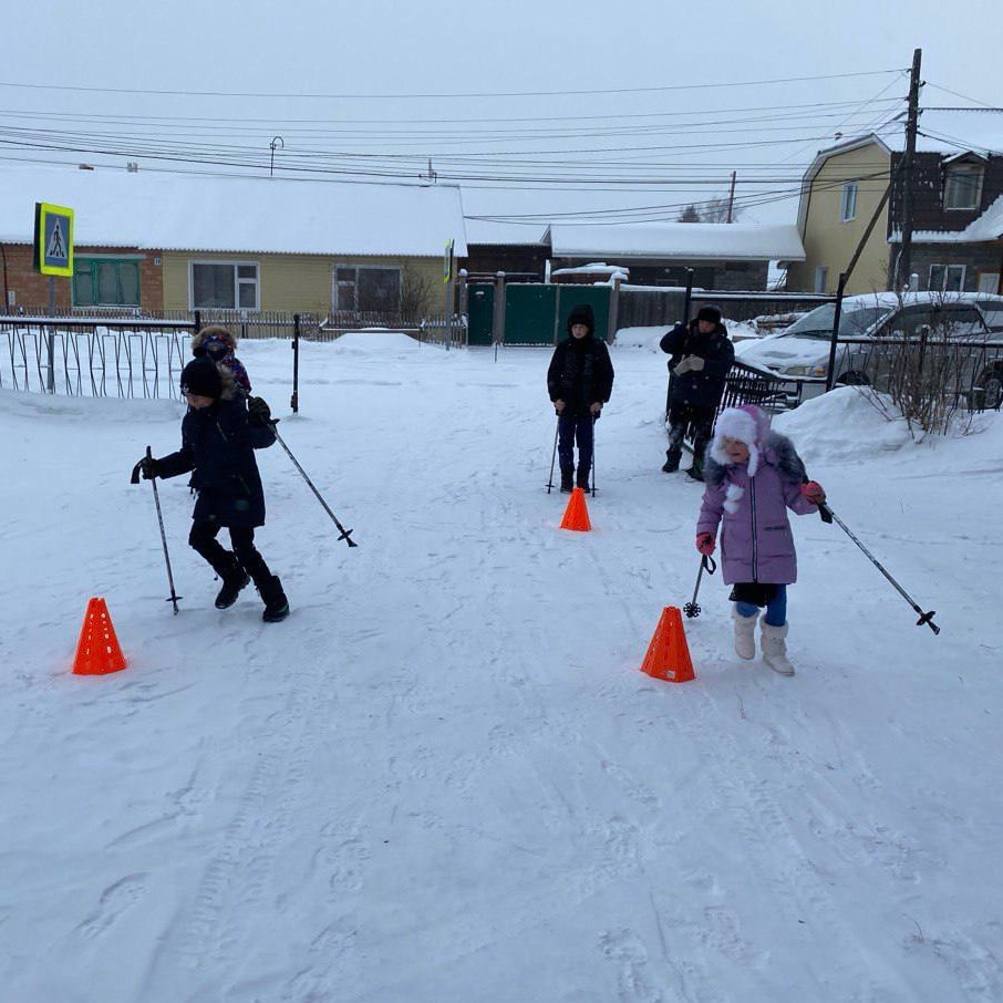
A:
[[[638,260],[684,258],[728,261],[804,261],[795,226],[754,223],[659,223],[633,226],[550,227],[556,258]]]

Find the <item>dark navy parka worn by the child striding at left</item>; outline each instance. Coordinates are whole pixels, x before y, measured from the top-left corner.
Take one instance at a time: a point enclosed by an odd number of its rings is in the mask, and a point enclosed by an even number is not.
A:
[[[232,379],[225,376],[218,401],[209,407],[188,409],[182,421],[182,447],[157,461],[157,476],[194,472],[195,521],[263,526],[265,492],[254,451],[275,441],[271,425],[250,417],[244,397],[235,394]]]

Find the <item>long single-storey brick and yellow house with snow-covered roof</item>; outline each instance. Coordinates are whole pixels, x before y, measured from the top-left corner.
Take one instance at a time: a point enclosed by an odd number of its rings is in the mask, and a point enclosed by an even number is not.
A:
[[[441,312],[444,250],[452,241],[456,258],[467,254],[459,188],[448,185],[2,168],[0,240],[30,248],[35,201],[75,213],[86,250],[58,290],[74,308],[375,320],[424,292],[424,310]]]

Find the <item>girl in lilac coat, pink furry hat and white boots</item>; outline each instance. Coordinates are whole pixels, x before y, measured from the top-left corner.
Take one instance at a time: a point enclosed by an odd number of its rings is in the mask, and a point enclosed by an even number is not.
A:
[[[794,675],[787,659],[787,586],[797,580],[797,556],[787,509],[817,511],[826,493],[805,475],[790,440],[769,431],[769,418],[752,404],[717,416],[704,467],[706,488],[696,524],[696,549],[714,552],[721,526],[724,583],[733,586],[735,651],[756,654],[759,609],[763,660],[782,675]]]

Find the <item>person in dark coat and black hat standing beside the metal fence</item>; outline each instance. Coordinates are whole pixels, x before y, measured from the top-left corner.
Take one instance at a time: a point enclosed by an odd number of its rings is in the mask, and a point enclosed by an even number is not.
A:
[[[735,349],[716,307],[701,307],[690,323],[676,324],[659,342],[669,360],[669,448],[662,469],[679,469],[686,430],[693,430],[693,465],[689,474],[703,480],[703,463],[714,430],[714,414],[724,395]]]

